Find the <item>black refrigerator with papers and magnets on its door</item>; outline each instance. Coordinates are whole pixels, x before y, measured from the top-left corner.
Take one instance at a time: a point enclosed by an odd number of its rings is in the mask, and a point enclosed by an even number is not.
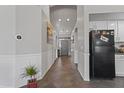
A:
[[[114,30],[90,31],[89,37],[90,78],[114,78]]]

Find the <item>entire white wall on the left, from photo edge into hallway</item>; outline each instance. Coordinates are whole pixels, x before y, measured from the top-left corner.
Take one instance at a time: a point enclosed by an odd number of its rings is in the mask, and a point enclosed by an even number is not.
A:
[[[42,10],[46,19],[42,18]],[[27,65],[36,65],[37,77],[41,79],[55,60],[53,47],[44,37],[47,24],[43,20],[50,20],[49,7],[0,6],[0,13],[0,87],[25,85],[27,79],[22,79],[21,74]],[[21,40],[16,39],[18,34],[22,36]],[[46,69],[42,73],[43,67]]]

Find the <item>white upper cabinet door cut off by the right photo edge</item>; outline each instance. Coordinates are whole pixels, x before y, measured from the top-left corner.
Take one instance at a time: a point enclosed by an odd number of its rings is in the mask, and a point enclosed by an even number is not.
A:
[[[124,42],[124,21],[118,21],[118,37],[120,42]]]

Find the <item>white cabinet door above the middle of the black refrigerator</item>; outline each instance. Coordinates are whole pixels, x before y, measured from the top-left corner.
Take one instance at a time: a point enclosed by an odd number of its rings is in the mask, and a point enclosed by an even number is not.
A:
[[[107,30],[107,21],[95,21],[97,30]]]

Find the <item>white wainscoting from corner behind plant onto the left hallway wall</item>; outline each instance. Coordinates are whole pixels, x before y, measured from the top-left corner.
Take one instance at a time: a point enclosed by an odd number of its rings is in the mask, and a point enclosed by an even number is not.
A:
[[[42,79],[53,63],[54,60],[52,49],[42,52],[42,54],[16,55],[15,87],[21,87],[27,83],[27,79],[23,79],[21,75],[24,71],[24,67],[27,65],[36,65],[39,70],[37,77],[38,79]]]

